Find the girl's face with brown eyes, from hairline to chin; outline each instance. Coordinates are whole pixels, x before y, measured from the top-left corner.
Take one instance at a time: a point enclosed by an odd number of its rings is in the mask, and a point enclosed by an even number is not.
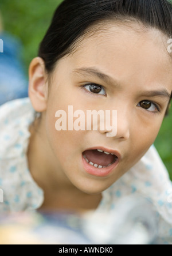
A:
[[[46,149],[55,156],[49,161],[57,176],[65,174],[85,193],[101,193],[147,152],[161,127],[172,89],[166,42],[153,29],[134,31],[109,24],[58,61],[41,123]],[[56,111],[64,110],[68,119],[68,106],[73,106],[73,112],[84,111],[85,116],[87,110],[116,110],[116,136],[107,137],[107,130],[99,126],[95,131],[69,131],[68,122],[67,131],[57,131]],[[118,159],[96,149],[114,153]]]

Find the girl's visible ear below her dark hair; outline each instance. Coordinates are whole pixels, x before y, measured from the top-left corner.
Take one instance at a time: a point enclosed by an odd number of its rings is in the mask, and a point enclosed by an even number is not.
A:
[[[42,58],[34,58],[29,66],[29,97],[34,110],[44,112],[48,99],[48,82],[45,63]]]

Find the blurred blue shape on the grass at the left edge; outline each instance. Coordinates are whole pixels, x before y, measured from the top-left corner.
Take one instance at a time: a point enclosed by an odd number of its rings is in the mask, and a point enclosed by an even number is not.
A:
[[[0,13],[0,105],[6,101],[28,97],[28,81],[20,59],[22,45],[18,39],[3,31]]]

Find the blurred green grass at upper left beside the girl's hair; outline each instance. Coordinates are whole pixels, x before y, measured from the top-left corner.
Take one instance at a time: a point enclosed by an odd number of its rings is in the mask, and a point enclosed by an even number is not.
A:
[[[32,58],[37,56],[38,46],[60,2],[62,0],[0,1],[0,11],[6,31],[18,36],[24,44],[21,54],[26,67],[29,66]]]

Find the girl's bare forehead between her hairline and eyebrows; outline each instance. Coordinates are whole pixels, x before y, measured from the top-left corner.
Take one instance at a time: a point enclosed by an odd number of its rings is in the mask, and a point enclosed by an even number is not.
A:
[[[64,58],[72,69],[97,67],[121,82],[163,84],[172,90],[172,62],[168,38],[161,31],[134,24],[95,26],[76,42],[75,51]],[[71,70],[72,71],[72,70]]]

